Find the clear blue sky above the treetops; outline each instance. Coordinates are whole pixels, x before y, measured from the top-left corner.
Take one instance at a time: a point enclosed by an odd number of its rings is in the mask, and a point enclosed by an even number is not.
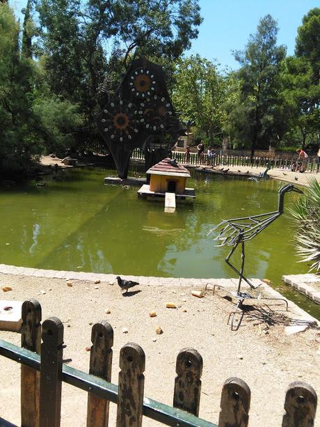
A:
[[[187,54],[200,54],[217,59],[222,67],[237,68],[232,50],[242,50],[250,34],[255,33],[259,20],[268,13],[278,21],[278,44],[294,54],[298,26],[308,10],[320,7],[319,0],[200,0],[204,17],[199,36]],[[26,0],[10,0],[19,12]]]

